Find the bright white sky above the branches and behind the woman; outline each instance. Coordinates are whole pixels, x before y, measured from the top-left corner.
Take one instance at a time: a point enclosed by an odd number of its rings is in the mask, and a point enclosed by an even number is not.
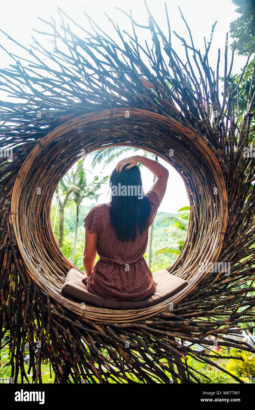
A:
[[[167,0],[166,3],[172,29],[172,46],[183,61],[186,61],[183,55],[183,46],[173,32],[176,31],[178,35],[184,37],[188,43],[189,36],[185,24],[180,17],[178,6],[180,6],[184,17],[190,26],[195,48],[200,49],[202,54],[204,50],[203,37],[205,36],[206,41],[209,41],[212,24],[214,24],[216,20],[218,21],[214,29],[214,37],[209,52],[209,63],[213,69],[216,68],[218,48],[221,48],[221,64],[219,72],[220,75],[222,75],[225,35],[229,29],[230,21],[235,20],[238,16],[235,14],[235,5],[229,0],[214,0],[213,2],[202,0]],[[33,35],[37,37],[47,50],[51,50],[53,44],[47,40],[47,36],[40,36],[32,29],[35,28],[39,31],[52,32],[50,28],[47,28],[48,26],[45,23],[37,19],[38,16],[45,21],[51,21],[52,17],[53,20],[56,21],[57,27],[59,27],[61,20],[57,10],[58,5],[79,25],[87,28],[88,31],[91,31],[87,18],[83,15],[83,10],[85,10],[97,25],[114,39],[116,39],[117,34],[113,30],[108,18],[104,15],[104,11],[115,23],[118,23],[121,29],[133,34],[129,18],[120,11],[115,10],[115,6],[125,10],[127,13],[129,13],[129,10],[131,9],[135,21],[142,25],[147,25],[147,11],[142,0],[44,0],[42,2],[34,0],[12,0],[1,3],[0,28],[28,48],[30,48],[28,45],[32,44],[31,36]],[[165,18],[165,1],[147,0],[147,5],[161,30],[168,36],[167,21]],[[65,18],[65,21],[67,22],[68,19]],[[72,27],[72,23],[70,23],[70,26]],[[137,34],[139,36],[139,41],[142,41],[144,36],[148,36],[149,32],[147,30],[138,29]],[[23,50],[9,41],[3,33],[0,34],[0,39],[2,46],[8,51],[17,54],[18,56],[24,55]],[[150,41],[150,38],[147,38],[147,41]],[[232,42],[232,39],[229,41]],[[230,56],[231,50],[229,50],[229,60]],[[246,57],[239,57],[236,55],[232,72],[239,73],[245,62]],[[2,51],[0,55],[0,66],[2,68],[7,67],[9,63],[12,64],[11,58],[7,53]],[[3,98],[2,93],[0,93],[0,98]],[[132,155],[132,153],[128,155]],[[163,160],[159,159],[159,162],[164,163],[170,172],[167,193],[160,205],[159,211],[177,212],[181,207],[189,205],[182,178]],[[89,162],[86,163],[87,168],[88,166],[90,166]],[[111,173],[114,167],[115,164],[106,168],[106,173]],[[95,168],[93,173],[96,174],[98,171],[100,171],[100,169]],[[144,191],[147,191],[151,185],[152,174],[144,169],[142,171],[142,179],[144,182]],[[108,187],[105,194],[102,194],[100,197],[99,203],[108,202],[109,198],[106,196],[107,191]],[[89,204],[89,201],[86,203]]]

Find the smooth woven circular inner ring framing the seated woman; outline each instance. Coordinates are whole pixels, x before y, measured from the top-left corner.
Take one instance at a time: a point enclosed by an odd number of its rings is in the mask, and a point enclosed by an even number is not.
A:
[[[168,270],[189,285],[168,302],[181,301],[203,280],[208,272],[201,270],[201,260],[217,260],[226,232],[227,195],[208,141],[155,112],[127,107],[91,112],[58,126],[39,140],[18,172],[11,198],[12,223],[27,273],[57,305],[79,319],[127,323],[151,317],[168,309],[169,304],[165,301],[141,310],[86,305],[86,310],[81,310],[81,303],[61,294],[66,273],[73,265],[61,252],[50,222],[52,197],[61,178],[82,153],[87,155],[106,146],[148,150],[169,162],[183,178],[191,206],[190,221],[183,250]],[[173,150],[171,155],[169,150]]]

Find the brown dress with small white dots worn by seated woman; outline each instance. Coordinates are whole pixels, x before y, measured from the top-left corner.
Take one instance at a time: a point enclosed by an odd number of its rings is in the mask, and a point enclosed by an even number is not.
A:
[[[151,205],[149,226],[156,216],[159,198],[156,192],[146,194]],[[110,223],[110,205],[93,207],[84,219],[90,233],[98,233],[97,253],[100,257],[93,273],[82,280],[88,292],[112,301],[142,301],[156,288],[151,271],[142,255],[148,242],[148,229],[137,230],[135,241],[120,242]]]

